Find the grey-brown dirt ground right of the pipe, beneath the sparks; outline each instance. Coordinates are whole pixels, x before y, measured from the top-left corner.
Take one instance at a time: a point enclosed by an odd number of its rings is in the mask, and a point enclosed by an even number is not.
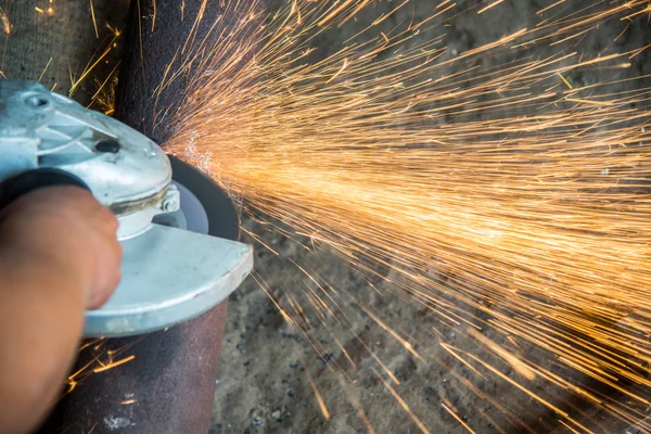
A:
[[[432,14],[436,3],[438,2],[429,0],[411,2],[410,8],[400,10],[382,23],[378,31],[388,33],[405,20],[423,20]],[[464,2],[468,7],[477,3]],[[422,35],[420,40],[445,33],[450,51],[448,55],[455,55],[452,52],[458,55],[523,27],[533,27],[539,18],[536,12],[551,3],[542,0],[507,0],[482,15],[474,12],[461,14],[448,23],[449,27],[434,29]],[[586,3],[589,2],[578,1],[569,8],[577,10]],[[368,16],[362,15],[358,22],[326,34],[315,43],[319,48],[319,55],[332,53],[344,40],[395,5],[396,2],[375,2]],[[625,36],[613,42],[622,30],[620,22],[608,23],[583,39],[577,50],[605,54],[649,40],[648,27],[634,26]],[[418,40],[414,41],[417,42]],[[549,47],[540,46],[531,48],[527,54],[544,58],[550,53]],[[635,59],[633,67],[621,73],[621,77],[628,74],[649,74],[651,64],[648,60],[646,55]],[[481,62],[483,66],[488,66],[497,61],[488,58]],[[605,74],[608,73],[595,69],[580,76],[575,75],[571,79],[575,82],[596,82],[604,79]],[[627,84],[617,90],[644,84]],[[380,292],[375,292],[365,280],[327,252],[308,254],[288,239],[266,233],[263,227],[252,220],[246,221],[246,226],[256,233],[265,234],[264,242],[279,253],[279,258],[275,258],[264,248],[258,250],[257,267],[270,288],[281,293],[292,293],[295,288],[309,286],[307,278],[293,273],[292,267],[288,265],[289,259],[292,259],[310,269],[311,273],[324,277],[332,288],[352,294],[361,305],[378,312],[393,330],[400,331],[403,335],[423,335],[421,342],[426,339],[436,342],[436,339],[432,339],[431,333],[427,333],[435,324],[426,311],[391,295],[391,284],[380,279],[374,282],[380,289]],[[393,278],[391,273],[387,275],[388,280]],[[400,384],[396,386],[396,391],[432,433],[468,432],[460,421],[442,409],[442,403],[455,408],[459,418],[476,433],[502,430],[515,433],[526,429],[539,433],[570,432],[558,422],[553,412],[526,395],[518,393],[505,382],[475,382],[485,397],[468,394],[461,383],[471,375],[441,347],[423,344],[421,349],[429,354],[430,358],[426,362],[419,361],[386,330],[363,315],[359,307],[350,306],[346,312],[352,318],[352,332],[340,331],[334,333],[334,336],[341,340],[343,348],[355,360],[356,369],[348,368],[343,352],[328,333],[321,335],[320,342],[328,348],[324,350],[326,360],[319,356],[295,327],[288,326],[280,318],[276,307],[259,290],[257,283],[248,280],[230,301],[212,433],[356,433],[367,432],[367,423],[378,433],[420,432],[383,382],[374,375],[373,370],[379,370],[379,365],[357,341],[358,336],[368,343],[374,355],[398,378]],[[468,339],[461,334],[455,336],[455,331],[448,331],[446,337],[459,348],[471,347]],[[535,348],[524,347],[522,353],[536,359]],[[327,363],[330,358],[344,367],[343,371],[348,379],[333,372]],[[545,362],[542,358],[538,360]],[[461,378],[454,378],[452,369],[461,372]],[[505,373],[513,374],[508,370],[505,370]],[[577,381],[585,381],[580,375],[575,375]],[[310,381],[314,381],[323,399],[329,419],[323,416]],[[591,411],[588,407],[582,408],[578,403],[573,401],[566,392],[553,390],[548,384],[538,383],[533,388],[552,401],[576,404],[574,414]],[[489,403],[488,397],[496,401]],[[500,414],[497,410],[499,404],[511,408],[521,418],[522,423],[511,423],[514,418]],[[612,423],[596,411],[589,416],[601,423],[598,432],[624,432],[624,426]]]

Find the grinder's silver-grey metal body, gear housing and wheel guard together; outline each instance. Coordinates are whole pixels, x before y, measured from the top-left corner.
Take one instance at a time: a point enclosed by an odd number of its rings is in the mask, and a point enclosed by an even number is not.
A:
[[[186,230],[169,158],[135,129],[25,80],[0,80],[0,206],[48,184],[77,184],[113,212],[122,281],[86,312],[85,336],[162,330],[219,304],[253,268],[251,246]],[[71,264],[74,267],[75,264]]]

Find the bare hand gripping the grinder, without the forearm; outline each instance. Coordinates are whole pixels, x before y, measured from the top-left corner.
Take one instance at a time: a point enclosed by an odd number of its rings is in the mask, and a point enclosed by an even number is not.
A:
[[[44,187],[13,202],[0,216],[3,239],[13,238],[25,260],[52,260],[74,272],[88,309],[101,307],[120,279],[117,219],[90,192]]]

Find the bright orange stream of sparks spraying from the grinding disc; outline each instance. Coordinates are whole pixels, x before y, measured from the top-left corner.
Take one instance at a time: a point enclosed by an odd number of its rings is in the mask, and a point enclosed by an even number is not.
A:
[[[532,28],[451,55],[449,22],[505,4],[446,0],[426,20],[375,33],[406,0],[326,59],[314,56],[317,38],[367,20],[373,3],[294,0],[267,13],[256,1],[224,2],[209,30],[219,43],[193,30],[158,87],[189,77],[183,105],[161,114],[175,131],[166,150],[265,215],[266,228],[334,252],[369,281],[380,277],[379,292],[425,309],[436,327],[414,336],[358,303],[419,362],[435,363],[438,347],[462,363],[467,393],[488,399],[473,381],[506,382],[564,426],[596,429],[572,406],[536,393],[544,382],[651,429],[643,421],[651,405],[651,91],[612,90],[631,79],[618,74],[644,47],[598,55],[574,49],[607,20],[623,27],[647,20],[648,2],[595,1],[571,12],[569,2],[550,1]],[[531,56],[532,44],[549,54]],[[587,69],[612,74],[571,82]],[[315,324],[348,324],[355,295],[292,267],[304,286],[280,293],[260,284],[323,354]],[[448,342],[449,330],[474,349]],[[363,345],[375,374],[425,431],[398,379]],[[353,360],[331,365],[347,374],[344,363]],[[310,384],[328,414],[311,376]],[[509,423],[533,431],[494,404]],[[441,405],[471,430],[451,404]]]

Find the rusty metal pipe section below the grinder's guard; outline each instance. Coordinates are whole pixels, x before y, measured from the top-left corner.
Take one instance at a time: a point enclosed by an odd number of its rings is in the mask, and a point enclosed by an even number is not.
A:
[[[132,360],[88,372],[38,434],[207,433],[228,301],[168,330],[89,341],[73,372],[108,352]],[[87,368],[88,369],[88,368]]]

